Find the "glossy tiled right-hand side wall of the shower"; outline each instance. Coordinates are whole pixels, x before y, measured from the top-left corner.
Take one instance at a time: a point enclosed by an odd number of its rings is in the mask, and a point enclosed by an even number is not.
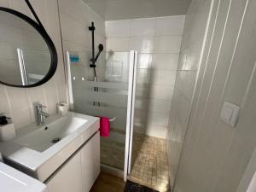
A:
[[[211,1],[195,0],[189,7],[183,30],[177,79],[168,124],[167,152],[171,185],[177,172],[191,108],[196,74],[202,54]]]

